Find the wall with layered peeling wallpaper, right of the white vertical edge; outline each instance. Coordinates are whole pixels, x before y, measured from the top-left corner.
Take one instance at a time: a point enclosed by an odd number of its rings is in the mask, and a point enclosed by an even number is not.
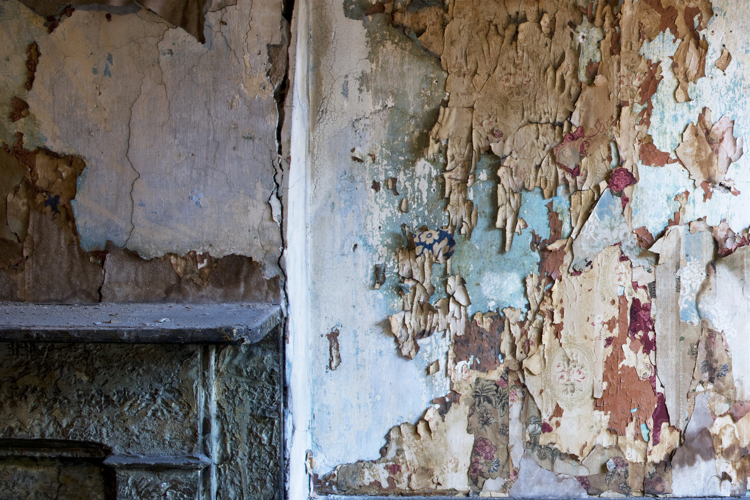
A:
[[[311,494],[745,496],[745,5],[308,15]]]

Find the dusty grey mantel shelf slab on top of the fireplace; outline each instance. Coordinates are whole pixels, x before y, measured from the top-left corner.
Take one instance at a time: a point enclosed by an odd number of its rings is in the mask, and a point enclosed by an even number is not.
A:
[[[281,317],[278,304],[0,302],[0,342],[255,343]]]

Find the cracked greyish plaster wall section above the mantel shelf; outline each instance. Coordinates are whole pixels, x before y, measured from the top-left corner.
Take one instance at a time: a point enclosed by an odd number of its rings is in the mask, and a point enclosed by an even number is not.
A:
[[[0,265],[4,298],[280,301],[283,2],[207,2],[205,43],[134,2],[115,3],[68,7],[54,22],[0,3],[0,141],[29,172],[6,188],[23,206],[21,220],[18,210],[5,217],[16,246]],[[84,166],[64,179],[62,198],[38,178],[68,172],[45,171],[39,151]],[[13,229],[28,205],[60,227],[52,243],[33,221],[26,243]],[[72,271],[40,295],[59,268],[43,249]],[[212,278],[222,265],[234,271]],[[159,283],[149,279],[162,268]]]

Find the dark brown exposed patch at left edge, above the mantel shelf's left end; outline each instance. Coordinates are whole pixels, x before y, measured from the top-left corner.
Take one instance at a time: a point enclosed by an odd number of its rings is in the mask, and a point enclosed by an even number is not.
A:
[[[82,302],[100,300],[104,279],[101,253],[86,253],[71,207],[78,176],[86,163],[78,157],[3,143],[5,210],[0,238],[7,241],[0,296],[6,300]],[[20,254],[20,255],[19,255]]]

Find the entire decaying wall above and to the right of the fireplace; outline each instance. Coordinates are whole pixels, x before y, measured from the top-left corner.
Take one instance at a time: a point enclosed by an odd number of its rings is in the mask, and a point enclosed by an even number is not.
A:
[[[288,297],[293,498],[750,494],[744,4],[109,3],[0,1],[0,298]]]

